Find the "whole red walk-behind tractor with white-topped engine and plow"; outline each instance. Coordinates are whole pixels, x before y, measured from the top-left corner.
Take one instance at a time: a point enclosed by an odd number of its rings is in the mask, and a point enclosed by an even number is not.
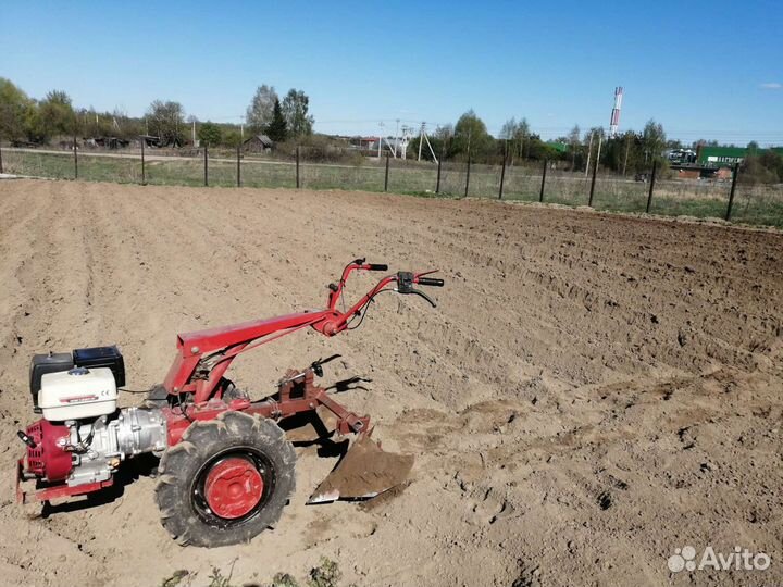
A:
[[[443,286],[443,279],[426,277],[434,272],[399,272],[348,311],[337,309],[351,272],[387,268],[352,261],[339,282],[330,284],[325,310],[179,335],[169,374],[141,407],[116,407],[125,385],[116,347],[35,355],[30,391],[42,419],[18,433],[27,452],[17,465],[17,498],[48,502],[94,494],[113,484],[123,461],[152,453],[160,458],[156,498],[172,535],[204,547],[247,541],[277,522],[294,491],[296,455],[286,423],[321,413],[331,415],[334,428],[319,420],[325,434],[355,437],[310,502],[366,499],[399,485],[412,457],[381,450],[370,439],[370,417],[347,410],[313,383],[335,357],[289,371],[276,392],[259,401],[225,377],[237,355],[282,336],[308,326],[328,337],[358,327],[382,291],[414,294],[435,307],[414,286]],[[35,489],[26,492],[33,482]]]

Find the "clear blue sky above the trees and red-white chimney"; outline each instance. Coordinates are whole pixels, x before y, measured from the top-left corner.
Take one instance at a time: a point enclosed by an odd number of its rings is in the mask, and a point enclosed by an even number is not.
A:
[[[783,4],[2,0],[0,76],[132,115],[160,98],[238,122],[266,83],[303,89],[325,133],[472,108],[545,138],[607,126],[624,86],[621,129],[783,145]]]

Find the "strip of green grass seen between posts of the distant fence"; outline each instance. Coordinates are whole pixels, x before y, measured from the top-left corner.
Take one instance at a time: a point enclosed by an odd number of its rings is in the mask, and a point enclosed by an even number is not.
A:
[[[7,173],[70,179],[74,177],[71,152],[38,153],[3,150]],[[147,161],[146,182],[164,186],[203,186],[203,161],[198,159]],[[236,186],[236,162],[213,159],[209,163],[209,185]],[[360,165],[311,164],[302,162],[300,185],[307,189],[352,189],[383,191],[384,162]],[[78,177],[91,182],[141,183],[141,161],[130,158],[90,157],[78,153]],[[388,191],[423,197],[462,197],[465,193],[464,163],[444,163],[440,190],[435,193],[437,170],[432,164],[399,160],[389,162]],[[506,170],[504,199],[538,201],[540,170],[514,166]],[[500,167],[472,165],[468,196],[497,198]],[[244,187],[295,188],[296,165],[286,162],[258,161],[248,158],[241,163]],[[581,174],[550,172],[547,175],[544,201],[577,207],[587,205],[591,178]],[[645,212],[649,185],[617,177],[598,177],[593,208],[608,212]],[[650,212],[654,214],[699,218],[724,217],[729,198],[728,184],[691,184],[659,182]],[[739,184],[732,214],[734,222],[783,228],[783,189],[750,187]]]

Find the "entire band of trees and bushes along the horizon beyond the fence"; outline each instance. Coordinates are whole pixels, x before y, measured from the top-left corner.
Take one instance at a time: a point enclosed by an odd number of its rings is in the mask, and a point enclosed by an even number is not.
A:
[[[244,126],[237,123],[199,122],[186,116],[185,108],[176,101],[154,100],[141,117],[126,113],[98,112],[94,108],[76,108],[62,90],[52,90],[44,99],[27,96],[11,80],[0,77],[0,140],[16,143],[47,145],[52,139],[72,137],[116,137],[133,141],[140,136],[154,137],[158,146],[179,147],[194,138],[209,147],[234,148],[244,138],[263,134],[272,139],[281,157],[293,157],[295,145],[309,147],[310,159],[351,160],[359,163],[360,154],[347,141],[313,134],[314,118],[309,112],[310,99],[291,88],[281,97],[273,86],[261,85],[253,93],[245,115]],[[194,137],[195,130],[195,137]],[[499,136],[489,134],[486,124],[473,110],[462,114],[456,124],[440,126],[427,135],[421,145],[422,158],[499,164],[504,158],[510,164],[525,161],[557,161],[570,171],[584,171],[588,162],[599,158],[602,168],[623,175],[648,173],[654,162],[666,172],[667,149],[681,149],[679,140],[667,138],[663,126],[650,120],[641,132],[626,130],[609,138],[600,127],[583,132],[574,126],[567,136],[545,141],[531,129],[526,118],[508,120]],[[408,158],[418,157],[420,137],[408,145]],[[687,146],[717,146],[716,141],[698,140]],[[771,150],[748,145],[743,163],[743,178],[754,183],[783,183],[783,157]]]

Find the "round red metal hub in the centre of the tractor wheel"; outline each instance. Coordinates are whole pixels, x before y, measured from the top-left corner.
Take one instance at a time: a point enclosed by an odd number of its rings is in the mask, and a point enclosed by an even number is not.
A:
[[[214,465],[204,483],[210,509],[221,517],[247,515],[263,495],[263,478],[248,459],[233,457]]]

